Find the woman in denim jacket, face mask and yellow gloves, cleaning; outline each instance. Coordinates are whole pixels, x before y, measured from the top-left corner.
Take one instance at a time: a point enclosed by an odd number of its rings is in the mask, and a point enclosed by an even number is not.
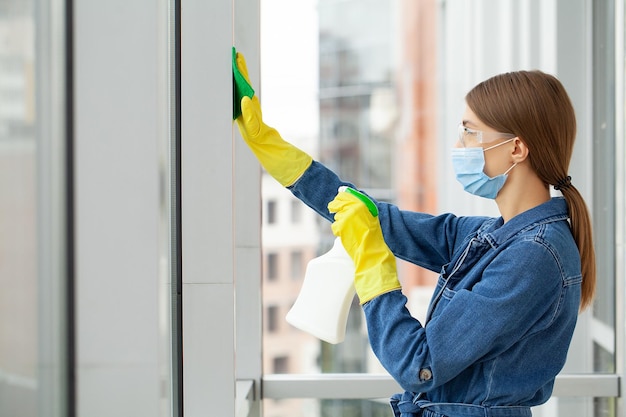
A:
[[[236,70],[247,79],[241,55]],[[478,84],[466,103],[453,166],[466,191],[495,199],[498,218],[374,201],[265,125],[256,97],[242,99],[237,118],[265,169],[333,222],[354,260],[370,344],[406,390],[392,398],[396,416],[530,416],[550,397],[594,295],[589,213],[568,176],[576,122],[563,86],[512,72]],[[405,307],[395,257],[440,272],[426,323]]]

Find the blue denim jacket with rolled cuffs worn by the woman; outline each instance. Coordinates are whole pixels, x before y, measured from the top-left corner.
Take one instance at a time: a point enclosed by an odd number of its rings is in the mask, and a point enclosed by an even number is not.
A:
[[[342,182],[322,164],[292,193],[332,221]],[[574,332],[580,256],[563,198],[502,218],[432,216],[376,202],[397,258],[439,272],[426,323],[401,291],[363,306],[370,344],[406,390],[396,416],[529,416],[551,395]]]

